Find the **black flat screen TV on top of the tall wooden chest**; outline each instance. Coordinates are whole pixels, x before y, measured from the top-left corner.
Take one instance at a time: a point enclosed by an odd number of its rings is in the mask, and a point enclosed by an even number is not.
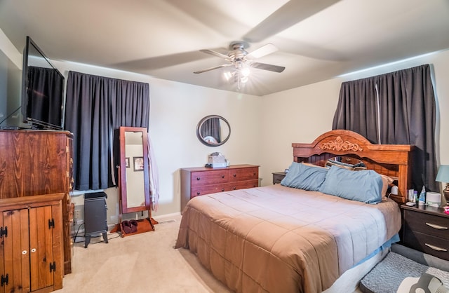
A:
[[[61,130],[65,113],[64,76],[27,36],[23,52],[22,115],[32,128]]]

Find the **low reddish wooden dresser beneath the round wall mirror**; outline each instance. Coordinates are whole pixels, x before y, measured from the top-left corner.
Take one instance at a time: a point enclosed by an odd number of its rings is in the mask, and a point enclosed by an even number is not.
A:
[[[195,196],[220,191],[248,189],[259,186],[259,166],[230,165],[227,168],[181,169],[181,212]]]

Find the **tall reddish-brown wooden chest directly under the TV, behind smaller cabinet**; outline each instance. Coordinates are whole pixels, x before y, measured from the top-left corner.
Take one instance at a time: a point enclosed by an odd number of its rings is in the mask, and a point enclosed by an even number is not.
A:
[[[53,130],[0,130],[0,199],[63,193],[62,245],[65,273],[71,272],[69,216],[72,190],[72,134]],[[6,201],[5,201],[6,200]],[[26,204],[27,199],[24,199]],[[58,268],[57,268],[58,269]],[[59,268],[61,269],[61,268]]]

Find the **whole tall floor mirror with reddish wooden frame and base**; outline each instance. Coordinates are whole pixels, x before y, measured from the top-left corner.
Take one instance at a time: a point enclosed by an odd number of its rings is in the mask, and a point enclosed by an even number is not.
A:
[[[154,230],[149,190],[147,128],[120,127],[119,229],[121,236]],[[145,219],[123,220],[123,214],[148,212]]]

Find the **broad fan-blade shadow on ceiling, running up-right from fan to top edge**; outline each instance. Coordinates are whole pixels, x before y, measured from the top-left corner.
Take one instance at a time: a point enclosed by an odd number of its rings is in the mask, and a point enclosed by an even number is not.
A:
[[[331,6],[340,0],[290,0],[272,15],[265,18],[259,25],[250,30],[243,40],[249,43],[258,43],[285,29],[297,24],[324,8]]]

